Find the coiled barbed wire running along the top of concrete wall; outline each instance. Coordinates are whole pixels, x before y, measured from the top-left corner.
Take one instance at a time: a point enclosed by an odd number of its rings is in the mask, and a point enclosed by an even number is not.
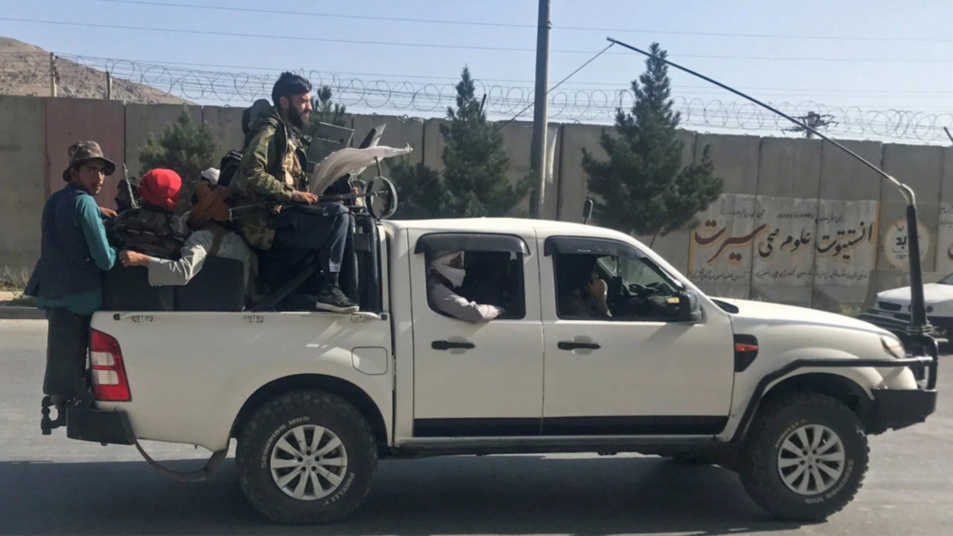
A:
[[[62,88],[59,96],[112,98],[127,102],[177,103],[204,101],[225,106],[247,106],[269,98],[277,70],[270,73],[206,71],[186,65],[153,64],[131,60],[71,54],[55,56],[55,73]],[[66,61],[64,61],[66,60]],[[106,72],[112,91],[105,89]],[[362,79],[335,72],[297,70],[315,87],[328,86],[334,100],[350,110],[371,113],[442,115],[456,103],[454,82],[411,82]],[[44,52],[0,53],[0,93],[18,83],[49,88],[50,55]],[[534,100],[532,88],[476,81],[476,92],[487,95],[486,109],[493,118],[510,118]],[[676,88],[676,91],[678,88]],[[35,94],[46,96],[42,91]],[[549,97],[551,120],[611,124],[619,108],[629,109],[635,100],[631,89],[559,90]],[[723,102],[684,96],[674,98],[683,127],[731,131],[775,132],[789,130],[785,119],[750,103]],[[943,128],[953,128],[953,113],[904,110],[869,110],[858,106],[828,107],[810,100],[772,103],[792,116],[810,113],[836,118],[825,128],[830,135],[855,138],[948,142]],[[522,113],[531,118],[532,107]]]

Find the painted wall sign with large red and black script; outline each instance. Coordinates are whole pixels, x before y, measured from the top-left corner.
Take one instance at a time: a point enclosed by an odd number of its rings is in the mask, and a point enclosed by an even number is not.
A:
[[[877,201],[722,195],[692,232],[689,278],[700,284],[865,285],[876,262],[877,215]],[[950,231],[953,242],[953,225]]]

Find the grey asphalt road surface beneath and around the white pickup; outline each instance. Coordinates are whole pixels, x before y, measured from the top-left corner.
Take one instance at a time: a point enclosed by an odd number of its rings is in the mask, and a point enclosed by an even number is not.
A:
[[[0,321],[0,536],[40,534],[953,534],[953,405],[871,438],[858,498],[820,525],[772,521],[718,467],[652,457],[499,456],[380,464],[366,507],[343,525],[273,526],[245,502],[231,461],[212,482],[156,475],[132,447],[39,431],[45,322]],[[953,363],[953,361],[950,361]],[[941,388],[953,390],[944,369]],[[193,447],[152,443],[175,467]]]

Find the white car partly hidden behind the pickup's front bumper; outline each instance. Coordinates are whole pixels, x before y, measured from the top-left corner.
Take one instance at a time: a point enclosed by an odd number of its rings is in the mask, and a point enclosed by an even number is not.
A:
[[[949,340],[953,335],[953,274],[938,282],[924,284],[923,302],[926,305],[926,318],[934,328],[934,335]],[[878,293],[862,319],[877,323],[895,333],[902,331],[910,320],[910,287]]]

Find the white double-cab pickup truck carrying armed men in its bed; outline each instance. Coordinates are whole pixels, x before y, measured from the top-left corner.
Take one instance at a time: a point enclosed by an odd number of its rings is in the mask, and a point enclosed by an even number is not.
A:
[[[68,437],[200,445],[206,474],[235,439],[241,488],[281,523],[353,513],[381,458],[566,452],[720,464],[769,512],[819,520],[861,487],[868,435],[936,407],[935,355],[861,320],[708,298],[614,231],[360,227],[359,313],[96,313],[95,400],[67,409]],[[469,323],[429,302],[429,259],[457,250],[510,259],[503,316]],[[598,258],[611,317],[560,314],[569,256]]]

